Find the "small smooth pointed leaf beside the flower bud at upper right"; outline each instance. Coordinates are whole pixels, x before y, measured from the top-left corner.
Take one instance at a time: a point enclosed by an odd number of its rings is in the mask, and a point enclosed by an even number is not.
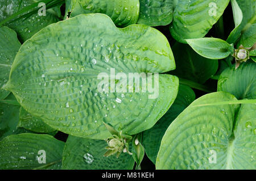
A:
[[[210,59],[222,59],[234,52],[234,46],[221,39],[204,37],[189,39],[187,43],[201,56]]]

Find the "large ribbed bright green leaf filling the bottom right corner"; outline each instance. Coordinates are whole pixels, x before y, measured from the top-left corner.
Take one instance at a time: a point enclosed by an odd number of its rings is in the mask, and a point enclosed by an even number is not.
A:
[[[201,96],[164,134],[156,169],[255,169],[255,104],[200,106],[232,101],[228,92]],[[234,126],[236,125],[236,126]]]

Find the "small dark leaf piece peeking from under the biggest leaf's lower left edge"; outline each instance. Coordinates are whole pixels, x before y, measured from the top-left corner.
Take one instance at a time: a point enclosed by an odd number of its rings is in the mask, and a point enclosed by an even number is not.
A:
[[[36,133],[51,133],[55,131],[54,128],[49,127],[40,118],[32,116],[22,107],[19,110],[18,127],[26,128]]]

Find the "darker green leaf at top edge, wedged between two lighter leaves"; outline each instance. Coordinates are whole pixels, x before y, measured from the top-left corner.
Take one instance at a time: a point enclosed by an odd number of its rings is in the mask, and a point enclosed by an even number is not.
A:
[[[165,26],[172,21],[174,0],[139,0],[139,24]]]

